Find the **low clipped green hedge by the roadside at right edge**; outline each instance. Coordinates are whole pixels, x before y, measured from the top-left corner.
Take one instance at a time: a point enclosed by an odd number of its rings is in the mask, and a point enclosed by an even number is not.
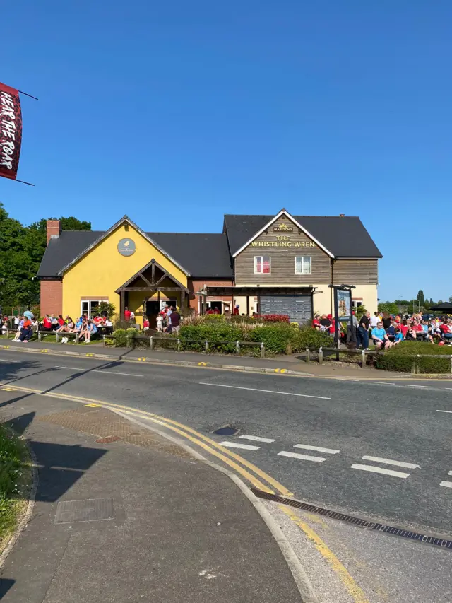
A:
[[[417,354],[434,354],[438,358],[418,358]],[[411,373],[413,366],[417,373],[451,373],[451,355],[450,346],[437,346],[424,341],[403,341],[384,353],[376,354],[375,366],[381,370],[402,373]]]

